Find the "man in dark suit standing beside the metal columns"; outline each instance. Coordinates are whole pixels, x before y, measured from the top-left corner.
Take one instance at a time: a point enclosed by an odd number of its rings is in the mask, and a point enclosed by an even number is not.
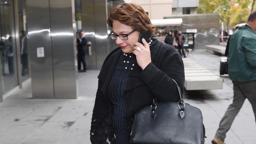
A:
[[[85,35],[83,31],[80,31],[81,39],[77,39],[78,42],[78,71],[86,72],[86,63],[85,63],[85,54],[86,54],[86,45],[87,40],[85,39]],[[83,70],[81,70],[81,62],[83,64]]]

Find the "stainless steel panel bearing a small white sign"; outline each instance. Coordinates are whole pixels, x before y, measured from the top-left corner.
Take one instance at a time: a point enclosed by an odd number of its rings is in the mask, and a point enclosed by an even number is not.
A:
[[[33,98],[54,98],[49,0],[27,0],[28,51]],[[43,47],[45,57],[37,57]]]

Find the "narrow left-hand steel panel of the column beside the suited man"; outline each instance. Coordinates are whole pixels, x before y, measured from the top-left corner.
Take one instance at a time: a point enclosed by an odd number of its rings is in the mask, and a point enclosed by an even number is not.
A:
[[[94,0],[81,0],[82,30],[87,41],[91,41],[91,54],[86,55],[87,69],[96,69],[96,41],[95,41],[95,6]]]

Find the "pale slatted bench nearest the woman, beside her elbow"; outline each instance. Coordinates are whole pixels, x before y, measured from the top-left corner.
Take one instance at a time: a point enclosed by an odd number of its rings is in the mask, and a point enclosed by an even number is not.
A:
[[[223,79],[199,65],[197,62],[183,58],[186,90],[223,89]]]

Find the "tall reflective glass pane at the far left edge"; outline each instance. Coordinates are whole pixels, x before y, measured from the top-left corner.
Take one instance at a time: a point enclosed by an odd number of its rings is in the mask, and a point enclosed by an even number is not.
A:
[[[13,3],[0,0],[0,61],[2,94],[18,85]]]

